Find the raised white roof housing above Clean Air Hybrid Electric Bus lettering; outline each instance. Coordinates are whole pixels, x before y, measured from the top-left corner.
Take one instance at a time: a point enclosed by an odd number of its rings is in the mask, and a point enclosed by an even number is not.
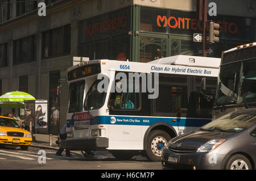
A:
[[[199,57],[177,55],[166,58],[160,58],[148,62],[148,64],[166,64],[166,65],[184,65],[184,66],[199,66],[205,68],[218,68],[220,66],[221,58]]]

